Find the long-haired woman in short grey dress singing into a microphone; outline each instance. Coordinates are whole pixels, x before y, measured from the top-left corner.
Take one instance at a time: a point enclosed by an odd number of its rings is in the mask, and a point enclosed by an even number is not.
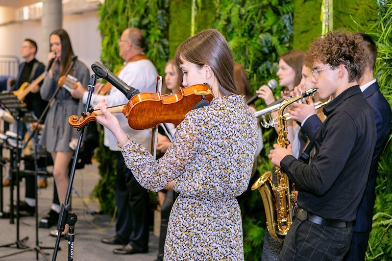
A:
[[[40,88],[41,96],[44,100],[49,100],[57,88],[60,76],[64,75],[71,64],[73,50],[70,37],[64,29],[56,29],[50,34],[50,52],[48,61],[55,58],[53,65],[45,77]],[[80,81],[82,86],[87,86],[89,81],[89,70],[80,61],[76,60],[70,74]],[[68,124],[70,115],[79,114],[83,106],[78,99],[74,99],[71,94],[60,89],[54,103],[49,109],[45,119],[45,129],[42,135],[42,145],[51,153],[53,158],[53,176],[57,187],[58,198],[64,203],[68,187],[68,165],[71,161],[73,150],[69,146],[71,138],[77,139],[79,133]],[[59,211],[59,210],[58,210]],[[68,225],[63,234],[68,232]],[[56,236],[56,233],[51,232]]]

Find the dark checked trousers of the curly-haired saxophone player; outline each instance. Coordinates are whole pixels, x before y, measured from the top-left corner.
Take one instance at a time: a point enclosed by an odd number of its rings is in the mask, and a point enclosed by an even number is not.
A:
[[[352,226],[332,228],[293,218],[279,260],[343,260],[350,248]]]

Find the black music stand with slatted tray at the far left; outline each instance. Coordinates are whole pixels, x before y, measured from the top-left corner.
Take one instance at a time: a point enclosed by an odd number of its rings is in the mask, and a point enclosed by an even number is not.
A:
[[[19,176],[20,176],[20,140],[21,138],[19,137],[20,133],[20,123],[21,122],[31,122],[31,121],[36,121],[36,117],[31,114],[27,108],[24,106],[24,104],[13,94],[13,93],[1,93],[0,94],[0,103],[2,106],[9,111],[9,113],[16,119],[16,124],[17,124],[17,135],[16,135],[16,148],[15,148],[15,155],[16,155],[16,241],[9,243],[9,244],[4,244],[0,245],[0,247],[11,247],[13,245],[16,246],[18,249],[22,249],[19,252],[14,252],[2,257],[8,257],[8,256],[13,256],[17,255],[20,253],[24,253],[27,251],[33,250],[33,248],[30,248],[25,245],[25,241],[28,239],[28,237],[23,238],[20,240],[19,238],[19,203],[20,203],[20,184],[19,184]],[[11,161],[11,165],[13,162]],[[10,167],[10,171],[12,173],[12,167]],[[11,182],[10,182],[10,223],[14,223],[14,196],[13,196],[13,187],[14,187],[14,175],[11,174]],[[0,258],[2,258],[0,257]]]

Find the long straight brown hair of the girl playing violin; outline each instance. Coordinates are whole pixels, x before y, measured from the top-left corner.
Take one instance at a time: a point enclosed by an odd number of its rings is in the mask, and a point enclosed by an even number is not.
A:
[[[219,83],[222,95],[238,94],[234,84],[234,59],[223,35],[215,29],[207,29],[188,38],[175,52],[178,66],[185,59],[202,67],[211,67]]]

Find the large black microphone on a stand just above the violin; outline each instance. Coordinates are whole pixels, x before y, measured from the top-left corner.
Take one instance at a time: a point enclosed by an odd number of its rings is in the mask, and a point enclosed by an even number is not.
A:
[[[106,79],[114,87],[116,87],[120,92],[122,92],[125,97],[130,100],[133,96],[140,94],[139,90],[127,85],[122,79],[117,77],[113,72],[109,71],[105,66],[99,62],[95,62],[91,65],[91,69],[102,79]]]

